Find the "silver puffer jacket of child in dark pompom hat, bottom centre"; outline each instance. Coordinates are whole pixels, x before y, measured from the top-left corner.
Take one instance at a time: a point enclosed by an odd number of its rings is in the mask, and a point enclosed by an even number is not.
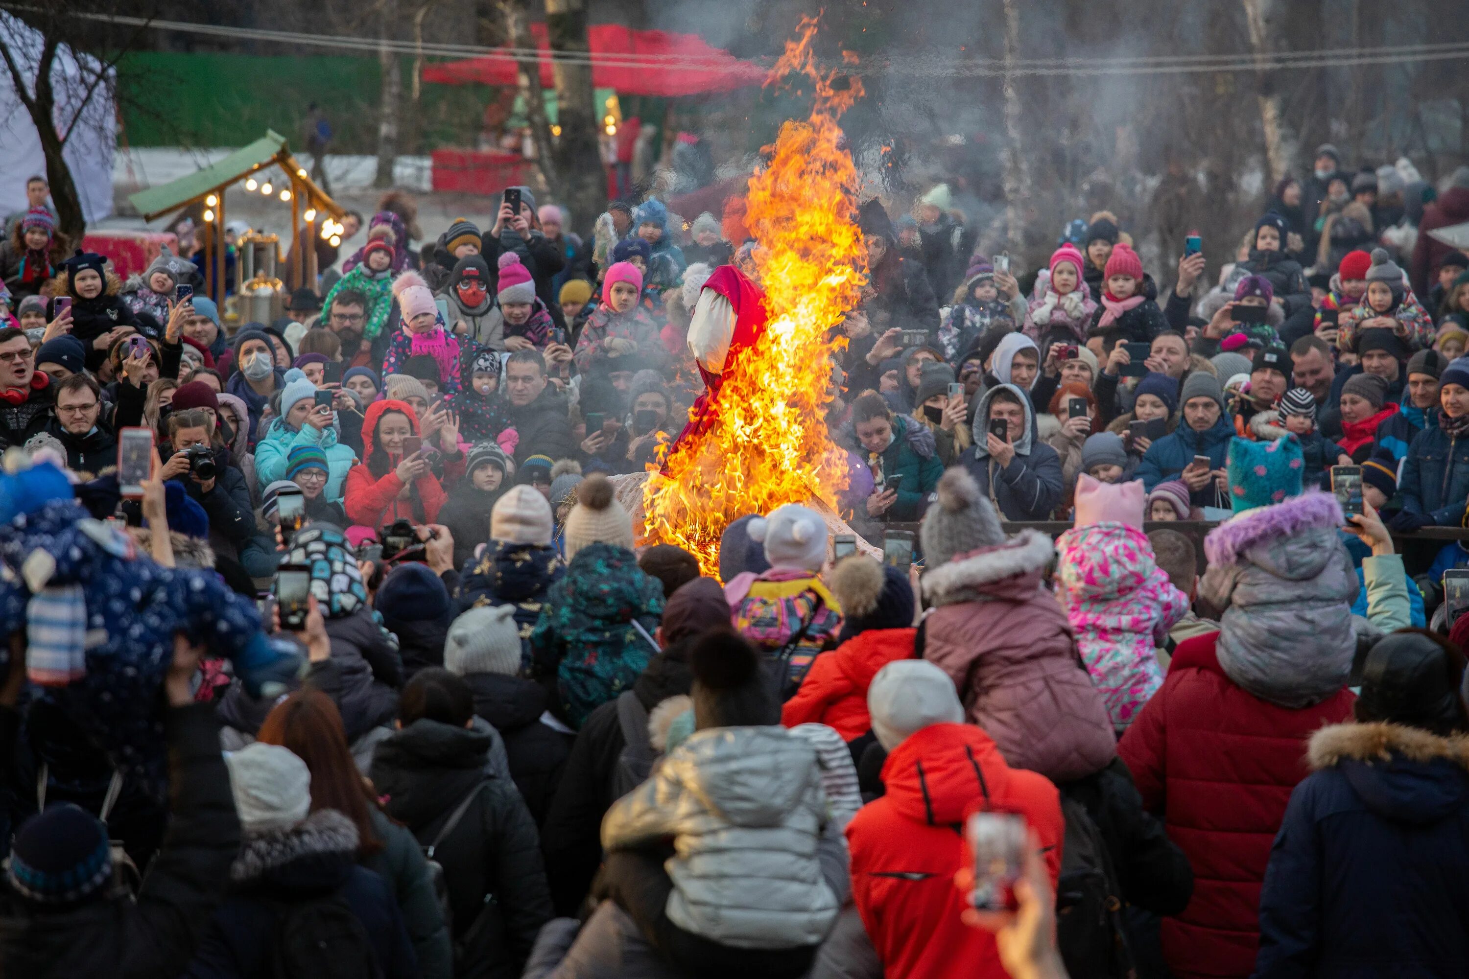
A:
[[[734,948],[815,945],[837,898],[817,842],[815,750],[780,727],[710,728],[680,744],[602,819],[602,848],[676,837],[668,920]]]

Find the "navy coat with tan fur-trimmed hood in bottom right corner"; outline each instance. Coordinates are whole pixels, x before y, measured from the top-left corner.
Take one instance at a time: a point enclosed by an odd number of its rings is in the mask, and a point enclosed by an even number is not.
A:
[[[1309,762],[1271,848],[1255,975],[1462,975],[1469,741],[1340,724],[1312,735]]]

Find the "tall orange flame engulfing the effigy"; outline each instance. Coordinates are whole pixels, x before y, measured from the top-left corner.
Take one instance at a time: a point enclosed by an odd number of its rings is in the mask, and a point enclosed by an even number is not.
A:
[[[667,476],[654,473],[643,487],[643,539],[685,547],[705,574],[717,574],[720,534],[734,518],[812,498],[834,506],[846,489],[845,454],[826,427],[831,355],[846,343],[831,327],[861,299],[867,250],[855,222],[856,169],[836,120],[862,85],[852,78],[837,90],[837,72],[817,66],[815,29],[815,19],[801,22],[765,82],[808,81],[815,107],[764,147],[770,163],[746,195],[770,324],[726,370],[712,424],[680,443]]]

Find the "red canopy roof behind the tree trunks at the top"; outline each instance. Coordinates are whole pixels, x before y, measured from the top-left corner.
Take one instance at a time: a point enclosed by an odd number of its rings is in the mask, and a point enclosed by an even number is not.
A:
[[[551,88],[551,44],[544,23],[530,32],[542,51],[541,84]],[[765,81],[765,69],[729,51],[711,47],[698,34],[633,31],[617,23],[596,23],[586,31],[592,48],[592,85],[623,95],[698,95]],[[514,56],[482,54],[461,62],[427,65],[423,79],[441,85],[514,85],[520,65]]]

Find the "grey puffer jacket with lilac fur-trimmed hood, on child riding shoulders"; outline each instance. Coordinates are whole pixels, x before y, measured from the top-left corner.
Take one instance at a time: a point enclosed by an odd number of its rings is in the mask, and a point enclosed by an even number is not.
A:
[[[1262,700],[1306,707],[1347,681],[1359,584],[1341,523],[1337,498],[1312,492],[1240,514],[1205,539],[1199,596],[1224,609],[1219,666]]]

